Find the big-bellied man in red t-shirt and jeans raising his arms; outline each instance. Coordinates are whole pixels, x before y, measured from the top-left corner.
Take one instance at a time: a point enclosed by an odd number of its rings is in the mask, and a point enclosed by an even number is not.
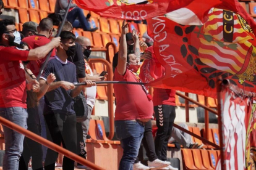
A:
[[[118,57],[113,59],[114,81],[142,82],[136,74],[139,69],[137,56],[127,52],[126,33],[128,24],[122,23]],[[136,38],[136,47],[139,38]],[[138,50],[136,48],[136,50]],[[153,102],[143,85],[114,84],[116,96],[115,126],[117,139],[124,150],[119,163],[120,169],[132,169],[139,153],[145,124],[152,118]]]

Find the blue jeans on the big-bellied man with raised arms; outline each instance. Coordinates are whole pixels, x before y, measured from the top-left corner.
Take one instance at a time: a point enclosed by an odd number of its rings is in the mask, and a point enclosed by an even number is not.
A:
[[[132,170],[139,153],[145,128],[136,121],[118,120],[114,121],[114,124],[116,126],[116,137],[121,141],[121,147],[124,150],[119,163],[119,170]]]

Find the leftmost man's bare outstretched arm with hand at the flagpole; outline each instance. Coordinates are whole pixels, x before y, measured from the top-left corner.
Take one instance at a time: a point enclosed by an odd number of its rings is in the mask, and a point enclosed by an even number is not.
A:
[[[61,38],[53,38],[51,42],[46,44],[45,46],[37,47],[35,49],[31,49],[28,53],[27,60],[39,60],[43,59],[54,47],[58,47],[61,42]]]

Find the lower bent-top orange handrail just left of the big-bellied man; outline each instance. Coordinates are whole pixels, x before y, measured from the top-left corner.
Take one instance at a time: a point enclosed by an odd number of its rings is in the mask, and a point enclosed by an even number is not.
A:
[[[113,80],[113,70],[110,63],[105,59],[90,59],[89,63],[103,63],[106,65],[108,76],[108,81]],[[113,84],[108,83],[108,116],[109,116],[109,136],[108,139],[112,140],[114,137],[114,99],[113,99]]]

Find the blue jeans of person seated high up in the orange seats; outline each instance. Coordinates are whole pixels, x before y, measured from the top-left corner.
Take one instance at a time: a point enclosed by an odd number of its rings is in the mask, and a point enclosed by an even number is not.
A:
[[[76,20],[76,18],[78,18],[78,20]],[[67,14],[67,21],[70,22],[74,28],[83,28],[83,31],[87,31],[91,28],[90,23],[80,7],[75,7]]]

